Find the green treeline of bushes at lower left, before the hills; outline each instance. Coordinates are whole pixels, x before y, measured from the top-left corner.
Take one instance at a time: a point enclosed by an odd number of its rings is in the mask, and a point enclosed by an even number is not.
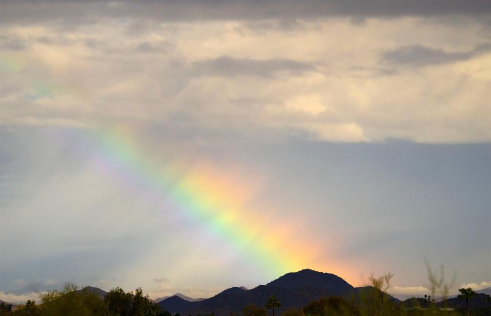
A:
[[[171,316],[168,311],[143,296],[141,288],[125,293],[115,288],[101,298],[87,289],[66,284],[61,291],[41,295],[40,304],[29,300],[16,307],[0,304],[0,316]]]

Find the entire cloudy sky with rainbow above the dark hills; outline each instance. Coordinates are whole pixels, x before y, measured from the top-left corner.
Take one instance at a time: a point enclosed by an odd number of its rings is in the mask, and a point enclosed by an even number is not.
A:
[[[491,286],[489,1],[2,1],[0,300],[426,263]]]

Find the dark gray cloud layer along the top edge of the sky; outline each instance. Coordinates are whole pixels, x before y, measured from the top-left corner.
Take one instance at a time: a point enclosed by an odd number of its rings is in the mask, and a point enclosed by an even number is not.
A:
[[[474,1],[13,1],[2,3],[4,23],[64,20],[90,23],[101,17],[136,17],[159,20],[268,19],[328,16],[485,16],[491,11],[487,0]]]

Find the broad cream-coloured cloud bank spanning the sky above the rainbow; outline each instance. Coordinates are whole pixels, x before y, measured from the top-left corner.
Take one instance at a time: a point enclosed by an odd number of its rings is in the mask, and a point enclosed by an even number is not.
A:
[[[0,50],[0,124],[90,128],[124,121],[224,134],[293,131],[343,142],[491,140],[488,55],[425,69],[381,61],[384,52],[415,45],[472,51],[483,41],[477,20],[296,24],[257,31],[233,20],[169,22],[139,37],[115,21],[62,31],[5,25],[1,31],[25,49]],[[52,41],[39,43],[40,36]],[[149,58],[135,50],[142,43],[171,45]]]

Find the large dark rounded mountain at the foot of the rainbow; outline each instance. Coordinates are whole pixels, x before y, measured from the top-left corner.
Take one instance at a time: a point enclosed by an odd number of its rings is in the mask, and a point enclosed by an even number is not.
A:
[[[331,273],[304,269],[286,275],[253,289],[232,287],[214,297],[202,301],[189,302],[172,296],[159,302],[164,310],[171,313],[199,314],[215,312],[216,314],[240,312],[248,304],[264,306],[272,294],[281,302],[280,313],[292,307],[301,308],[309,302],[327,296],[347,296],[356,292],[355,288],[342,278]]]

